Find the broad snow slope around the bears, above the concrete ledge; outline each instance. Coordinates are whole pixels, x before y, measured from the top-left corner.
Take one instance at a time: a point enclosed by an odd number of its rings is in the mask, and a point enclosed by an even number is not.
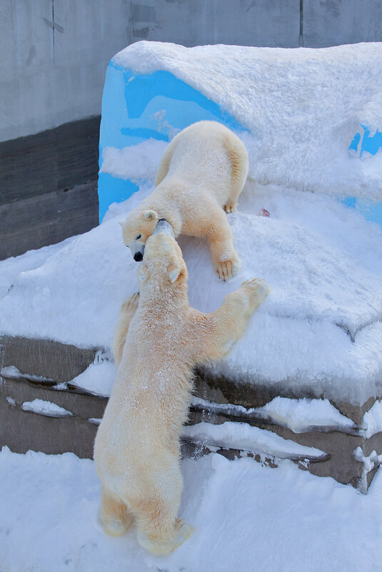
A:
[[[0,300],[0,331],[109,351],[120,305],[139,291],[139,265],[118,221],[151,189],[144,185],[125,203],[112,205],[99,227],[19,273]],[[257,216],[261,207],[271,216]],[[251,180],[238,210],[228,220],[243,268],[228,283],[214,275],[204,242],[179,239],[193,307],[214,310],[254,276],[271,286],[246,334],[210,371],[237,382],[266,383],[281,394],[324,393],[353,404],[378,397],[382,229],[335,198]]]

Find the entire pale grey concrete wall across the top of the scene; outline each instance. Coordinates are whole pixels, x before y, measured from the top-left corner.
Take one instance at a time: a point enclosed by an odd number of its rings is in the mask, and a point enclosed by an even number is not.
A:
[[[98,115],[131,42],[332,46],[382,41],[381,0],[1,0],[0,141]]]

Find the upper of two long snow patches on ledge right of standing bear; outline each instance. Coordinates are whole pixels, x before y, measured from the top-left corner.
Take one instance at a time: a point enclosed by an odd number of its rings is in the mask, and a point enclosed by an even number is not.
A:
[[[263,419],[291,429],[294,433],[303,433],[314,429],[320,431],[336,429],[336,431],[344,432],[349,429],[356,429],[356,424],[342,415],[328,399],[275,397],[263,407],[246,408],[231,403],[217,404],[193,397],[192,404],[193,407],[201,407],[211,412],[240,414],[241,417],[248,415],[256,419]]]

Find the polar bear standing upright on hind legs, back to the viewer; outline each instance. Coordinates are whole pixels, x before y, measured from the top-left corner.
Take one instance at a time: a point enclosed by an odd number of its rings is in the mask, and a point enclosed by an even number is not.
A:
[[[166,221],[146,241],[139,278],[141,292],[124,302],[116,325],[119,369],[94,461],[106,533],[123,534],[135,518],[141,546],[165,554],[192,531],[177,514],[183,486],[179,436],[191,402],[193,366],[229,352],[268,287],[261,279],[247,280],[215,312],[194,310],[186,264]]]

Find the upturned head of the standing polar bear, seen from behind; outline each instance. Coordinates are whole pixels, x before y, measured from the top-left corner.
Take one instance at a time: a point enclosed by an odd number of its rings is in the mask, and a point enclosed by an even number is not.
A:
[[[162,219],[163,220],[163,219]],[[139,267],[138,277],[142,284],[176,285],[186,284],[188,272],[181,249],[174,238],[171,225],[162,220],[146,241],[144,261]]]

